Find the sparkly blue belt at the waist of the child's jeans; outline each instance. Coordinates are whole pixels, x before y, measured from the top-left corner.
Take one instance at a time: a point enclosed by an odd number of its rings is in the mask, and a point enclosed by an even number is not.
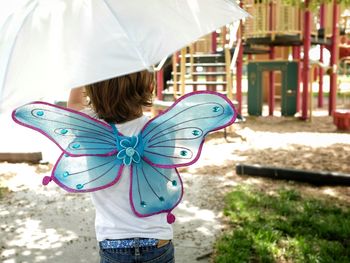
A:
[[[106,239],[101,241],[99,244],[101,249],[155,247],[158,244],[158,239],[154,239],[154,238]]]

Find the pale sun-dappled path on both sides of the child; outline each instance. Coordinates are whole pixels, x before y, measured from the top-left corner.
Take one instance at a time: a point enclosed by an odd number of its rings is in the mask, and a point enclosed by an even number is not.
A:
[[[0,165],[1,178],[9,188],[0,201],[0,261],[98,262],[89,196],[67,194],[54,184],[43,187],[40,180],[49,172],[36,170],[37,166],[27,164]],[[211,207],[217,196],[205,196],[208,187],[218,186],[217,177],[203,177],[182,174],[186,194],[174,211],[178,262],[195,262],[210,252],[220,232],[221,205]]]

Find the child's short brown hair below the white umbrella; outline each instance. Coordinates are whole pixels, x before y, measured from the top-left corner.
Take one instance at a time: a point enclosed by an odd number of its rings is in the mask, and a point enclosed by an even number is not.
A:
[[[85,86],[89,104],[100,119],[122,123],[142,115],[142,106],[152,106],[153,74],[145,71]]]

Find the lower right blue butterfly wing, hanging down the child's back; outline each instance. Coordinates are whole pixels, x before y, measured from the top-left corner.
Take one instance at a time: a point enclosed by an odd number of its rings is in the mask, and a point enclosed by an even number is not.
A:
[[[131,204],[140,217],[168,212],[168,222],[174,218],[171,210],[181,201],[183,185],[175,168],[154,167],[144,160],[132,165]]]

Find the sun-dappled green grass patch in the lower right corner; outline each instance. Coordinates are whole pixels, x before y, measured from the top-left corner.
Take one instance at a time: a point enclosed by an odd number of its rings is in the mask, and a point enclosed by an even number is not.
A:
[[[226,197],[230,230],[215,262],[350,262],[350,209],[297,190],[239,187]]]

